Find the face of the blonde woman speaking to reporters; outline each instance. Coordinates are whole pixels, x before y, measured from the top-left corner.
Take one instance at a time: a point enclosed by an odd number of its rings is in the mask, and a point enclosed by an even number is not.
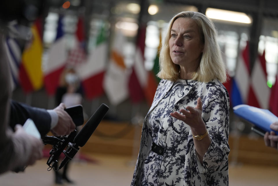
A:
[[[204,49],[197,23],[190,18],[176,19],[171,28],[169,47],[173,63],[196,70]]]

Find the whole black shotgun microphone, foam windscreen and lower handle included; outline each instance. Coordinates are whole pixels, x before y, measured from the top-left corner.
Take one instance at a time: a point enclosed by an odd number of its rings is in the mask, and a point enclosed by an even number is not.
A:
[[[69,143],[69,146],[66,150],[63,150],[65,154],[65,158],[61,162],[59,169],[61,169],[70,159],[74,157],[74,155],[79,150],[79,146],[83,147],[86,142],[89,140],[93,132],[98,127],[98,124],[104,118],[105,114],[109,110],[109,107],[105,104],[101,104],[96,112],[91,116],[91,118],[87,121],[84,127],[80,130],[80,132],[75,136],[73,142],[75,144]]]

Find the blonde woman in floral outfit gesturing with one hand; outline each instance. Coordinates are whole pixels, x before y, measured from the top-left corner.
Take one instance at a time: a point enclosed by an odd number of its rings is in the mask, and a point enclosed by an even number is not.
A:
[[[131,185],[228,185],[229,95],[212,21],[175,15],[159,64]]]

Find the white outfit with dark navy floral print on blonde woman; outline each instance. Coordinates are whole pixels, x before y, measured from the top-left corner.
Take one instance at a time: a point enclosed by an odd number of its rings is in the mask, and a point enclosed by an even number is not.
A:
[[[202,118],[211,137],[201,165],[190,127],[170,116],[202,99]],[[144,120],[139,155],[131,185],[228,185],[229,96],[213,80],[172,82],[162,79]],[[164,154],[151,150],[152,143],[164,147]]]

